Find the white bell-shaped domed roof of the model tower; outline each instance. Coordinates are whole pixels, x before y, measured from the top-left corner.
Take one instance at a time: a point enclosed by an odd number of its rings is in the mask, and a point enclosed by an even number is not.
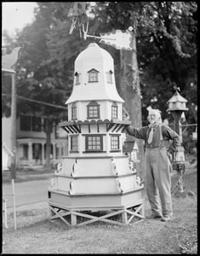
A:
[[[110,100],[124,102],[118,95],[114,76],[114,61],[106,49],[100,48],[98,44],[91,43],[84,49],[74,63],[79,82],[74,80],[71,96],[66,104],[77,101]],[[96,80],[90,80],[90,73],[96,73]],[[108,81],[107,76],[111,76]]]

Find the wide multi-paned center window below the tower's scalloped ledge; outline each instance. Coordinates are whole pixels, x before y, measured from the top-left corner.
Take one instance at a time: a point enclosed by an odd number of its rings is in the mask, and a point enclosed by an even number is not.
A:
[[[98,135],[90,135],[85,137],[86,151],[102,151],[103,137]]]

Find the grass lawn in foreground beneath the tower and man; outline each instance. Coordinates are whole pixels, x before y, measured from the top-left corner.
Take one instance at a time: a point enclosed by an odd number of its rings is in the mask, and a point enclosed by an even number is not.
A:
[[[176,175],[172,188],[175,183]],[[49,220],[47,206],[18,212],[14,230],[10,214],[10,227],[3,228],[3,253],[197,254],[197,171],[187,172],[183,183],[195,196],[173,195],[174,217],[167,223],[146,218],[127,226],[96,222],[69,228],[60,219]],[[147,200],[145,209],[148,216]]]

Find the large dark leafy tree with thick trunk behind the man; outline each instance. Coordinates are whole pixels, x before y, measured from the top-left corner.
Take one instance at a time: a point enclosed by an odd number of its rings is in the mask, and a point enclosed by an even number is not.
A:
[[[167,102],[174,94],[174,85],[190,101],[189,109],[197,106],[196,2],[101,2],[94,14],[100,22],[100,32],[126,30],[137,20],[133,53],[121,50],[121,66],[117,67],[122,78],[118,79],[118,89],[134,126],[140,126],[140,104],[143,125],[148,125],[149,105],[159,108],[163,119],[168,117]],[[193,122],[191,117],[195,118],[197,111],[190,111],[189,115],[188,120]]]

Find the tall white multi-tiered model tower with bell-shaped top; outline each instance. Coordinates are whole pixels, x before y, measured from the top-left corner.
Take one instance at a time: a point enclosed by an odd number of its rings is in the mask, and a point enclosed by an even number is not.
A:
[[[130,124],[123,120],[123,102],[111,55],[89,44],[75,61],[73,90],[66,101],[68,121],[60,123],[68,133],[69,154],[62,157],[49,186],[50,218],[67,225],[99,220],[129,224],[134,216],[145,218],[144,185],[123,154],[124,131]],[[119,214],[122,218],[113,220]],[[82,217],[79,223],[77,216]]]

